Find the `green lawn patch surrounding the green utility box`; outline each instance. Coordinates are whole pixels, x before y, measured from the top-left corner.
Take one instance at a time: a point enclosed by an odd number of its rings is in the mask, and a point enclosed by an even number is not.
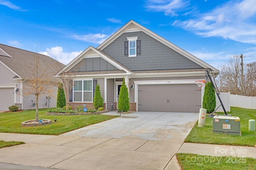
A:
[[[218,114],[223,115],[225,113]],[[240,131],[242,136],[213,133],[213,119],[209,118],[207,115],[205,126],[198,127],[197,122],[184,142],[254,147],[254,145],[256,145],[256,131],[248,130],[248,120],[256,119],[256,109],[231,107],[231,111],[228,114],[240,118]]]

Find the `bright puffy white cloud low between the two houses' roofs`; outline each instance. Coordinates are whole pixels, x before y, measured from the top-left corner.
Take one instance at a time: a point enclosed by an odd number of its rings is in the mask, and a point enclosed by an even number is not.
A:
[[[74,58],[82,53],[82,51],[74,51],[71,53],[64,53],[62,47],[52,47],[51,49],[46,48],[46,51],[40,51],[40,54],[47,55],[56,59],[60,63],[68,64]]]

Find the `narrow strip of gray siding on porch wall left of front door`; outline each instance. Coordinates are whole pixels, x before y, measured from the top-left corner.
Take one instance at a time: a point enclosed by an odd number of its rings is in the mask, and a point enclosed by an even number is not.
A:
[[[107,110],[114,109],[114,99],[115,99],[114,86],[115,86],[114,79],[113,78],[107,79]]]

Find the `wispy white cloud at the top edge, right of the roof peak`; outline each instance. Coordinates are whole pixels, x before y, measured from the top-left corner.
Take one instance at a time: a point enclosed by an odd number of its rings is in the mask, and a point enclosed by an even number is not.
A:
[[[164,12],[166,16],[178,16],[178,11],[183,11],[189,6],[188,0],[149,0],[146,8],[150,11]]]

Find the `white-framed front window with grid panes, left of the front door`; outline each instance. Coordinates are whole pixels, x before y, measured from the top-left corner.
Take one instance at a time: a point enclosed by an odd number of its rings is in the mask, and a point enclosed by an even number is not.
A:
[[[74,81],[74,102],[92,102],[92,80]]]

